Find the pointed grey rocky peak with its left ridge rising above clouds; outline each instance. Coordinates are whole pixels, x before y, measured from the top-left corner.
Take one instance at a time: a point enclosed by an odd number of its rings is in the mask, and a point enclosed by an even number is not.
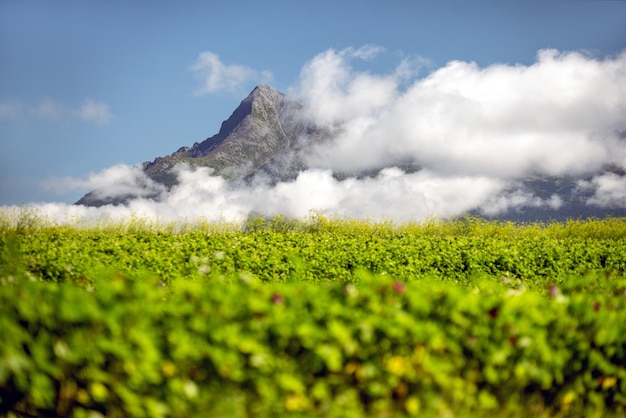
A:
[[[316,127],[306,118],[303,107],[299,100],[270,86],[257,86],[222,122],[217,134],[144,163],[144,172],[165,187],[176,183],[172,169],[179,163],[192,168],[210,167],[215,175],[228,179],[251,179],[259,175],[273,181],[293,179],[304,168],[301,158],[304,148],[330,138],[328,130]],[[136,196],[103,197],[90,192],[76,204],[115,205],[133,197]]]

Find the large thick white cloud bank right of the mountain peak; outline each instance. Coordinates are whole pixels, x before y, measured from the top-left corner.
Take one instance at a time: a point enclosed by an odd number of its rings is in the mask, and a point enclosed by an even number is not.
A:
[[[398,73],[355,71],[328,50],[302,70],[297,91],[321,124],[341,124],[311,158],[347,171],[414,161],[437,173],[515,178],[623,166],[626,53],[598,60],[540,51],[524,65],[453,61],[401,89]]]

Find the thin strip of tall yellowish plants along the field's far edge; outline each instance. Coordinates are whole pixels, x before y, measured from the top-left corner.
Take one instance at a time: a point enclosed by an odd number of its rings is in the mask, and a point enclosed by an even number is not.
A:
[[[0,211],[1,230],[24,229],[85,229],[110,232],[205,232],[207,234],[279,232],[279,233],[335,233],[346,235],[396,235],[416,234],[436,237],[485,237],[485,238],[554,238],[554,239],[625,239],[626,217],[603,219],[570,219],[567,221],[518,223],[513,221],[486,220],[478,217],[457,219],[427,219],[398,223],[393,220],[351,219],[326,217],[312,212],[305,218],[250,216],[245,222],[212,222],[198,218],[192,221],[167,221],[130,216],[85,218],[78,214],[66,214],[59,222],[29,207],[12,207]]]

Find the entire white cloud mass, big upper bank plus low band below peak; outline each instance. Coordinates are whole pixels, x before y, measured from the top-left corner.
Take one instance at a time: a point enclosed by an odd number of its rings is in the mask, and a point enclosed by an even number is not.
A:
[[[292,93],[336,138],[307,154],[309,168],[294,181],[233,185],[209,169],[179,166],[179,184],[168,191],[141,168],[120,165],[48,186],[138,196],[127,207],[35,210],[73,223],[130,216],[241,222],[253,213],[312,211],[401,222],[562,207],[560,196],[526,189],[527,176],[574,176],[588,205],[626,210],[626,178],[619,174],[626,170],[626,53],[596,59],[544,50],[532,65],[486,68],[454,61],[422,78],[420,59],[402,61],[389,74],[355,70],[379,50],[328,50],[303,67]],[[394,167],[407,163],[421,170]],[[384,167],[375,177],[333,177]],[[602,171],[607,167],[613,172]],[[11,210],[20,208],[4,208]]]

